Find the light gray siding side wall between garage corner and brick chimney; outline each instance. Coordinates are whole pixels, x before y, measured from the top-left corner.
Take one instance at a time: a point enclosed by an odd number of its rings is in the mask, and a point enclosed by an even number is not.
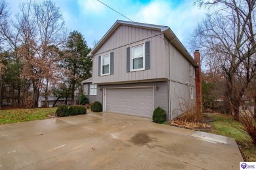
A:
[[[194,66],[172,44],[169,44],[170,98],[172,118],[177,118],[196,103]],[[191,84],[188,86],[188,83]],[[193,99],[191,99],[191,88]]]

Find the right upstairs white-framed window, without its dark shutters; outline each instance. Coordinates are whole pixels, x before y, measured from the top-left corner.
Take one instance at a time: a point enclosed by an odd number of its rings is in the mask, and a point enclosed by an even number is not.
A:
[[[133,46],[131,48],[131,70],[139,71],[144,70],[145,54],[144,54],[144,44],[138,46]]]

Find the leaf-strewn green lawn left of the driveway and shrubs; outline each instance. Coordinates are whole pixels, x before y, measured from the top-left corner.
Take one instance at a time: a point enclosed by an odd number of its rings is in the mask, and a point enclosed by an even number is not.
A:
[[[56,107],[51,107],[41,109],[0,110],[0,124],[12,124],[17,122],[47,119],[47,115],[54,113],[56,109]]]

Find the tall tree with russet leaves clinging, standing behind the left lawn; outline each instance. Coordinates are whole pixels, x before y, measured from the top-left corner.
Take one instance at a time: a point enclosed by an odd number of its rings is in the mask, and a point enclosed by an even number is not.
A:
[[[24,63],[22,75],[32,81],[32,107],[37,107],[39,95],[45,90],[45,103],[51,80],[56,78],[58,46],[63,43],[64,19],[53,1],[23,3],[18,18],[22,42],[19,48]]]

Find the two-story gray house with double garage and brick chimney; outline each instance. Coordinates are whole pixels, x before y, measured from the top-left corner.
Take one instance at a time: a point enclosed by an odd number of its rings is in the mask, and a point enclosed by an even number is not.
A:
[[[167,26],[117,20],[89,53],[96,100],[103,111],[146,117],[161,107],[167,120],[196,101],[202,109],[200,53],[194,55],[197,62]]]

